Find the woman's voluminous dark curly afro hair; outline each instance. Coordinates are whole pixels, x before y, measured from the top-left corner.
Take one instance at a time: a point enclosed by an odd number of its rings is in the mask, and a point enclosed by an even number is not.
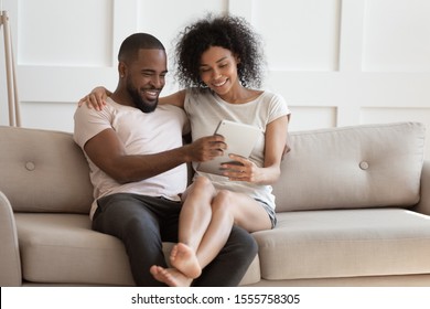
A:
[[[260,36],[244,18],[213,14],[186,26],[179,35],[175,75],[181,86],[207,87],[200,77],[200,60],[211,46],[229,50],[240,60],[237,71],[243,86],[261,86],[265,58]]]

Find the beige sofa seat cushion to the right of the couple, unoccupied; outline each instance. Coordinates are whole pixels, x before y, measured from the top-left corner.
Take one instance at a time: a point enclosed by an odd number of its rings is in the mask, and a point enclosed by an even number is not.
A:
[[[280,213],[254,236],[264,279],[430,274],[430,216],[408,210]]]

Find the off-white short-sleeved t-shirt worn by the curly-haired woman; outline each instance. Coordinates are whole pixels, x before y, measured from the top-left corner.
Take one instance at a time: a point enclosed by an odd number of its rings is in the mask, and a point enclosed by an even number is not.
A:
[[[193,140],[213,135],[218,122],[224,119],[260,128],[261,137],[249,158],[258,167],[264,167],[267,125],[281,116],[290,114],[284,99],[280,95],[269,92],[264,92],[255,100],[245,104],[229,104],[209,89],[200,93],[189,89],[185,95],[184,108],[191,121]],[[275,209],[275,196],[271,194],[271,185],[229,181],[225,177],[203,172],[196,172],[196,174],[207,177],[217,189],[228,189],[245,193],[252,199],[266,202]]]

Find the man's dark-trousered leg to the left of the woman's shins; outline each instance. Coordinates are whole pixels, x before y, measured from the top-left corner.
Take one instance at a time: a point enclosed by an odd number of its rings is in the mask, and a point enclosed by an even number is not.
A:
[[[162,286],[149,273],[152,265],[166,267],[160,236],[160,216],[165,212],[179,213],[179,209],[172,210],[157,198],[121,193],[100,199],[98,205],[93,228],[123,242],[136,285]]]

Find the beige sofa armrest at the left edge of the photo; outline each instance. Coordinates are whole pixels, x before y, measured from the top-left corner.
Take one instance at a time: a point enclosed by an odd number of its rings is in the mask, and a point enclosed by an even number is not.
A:
[[[21,259],[12,206],[0,191],[0,286],[21,286]]]

